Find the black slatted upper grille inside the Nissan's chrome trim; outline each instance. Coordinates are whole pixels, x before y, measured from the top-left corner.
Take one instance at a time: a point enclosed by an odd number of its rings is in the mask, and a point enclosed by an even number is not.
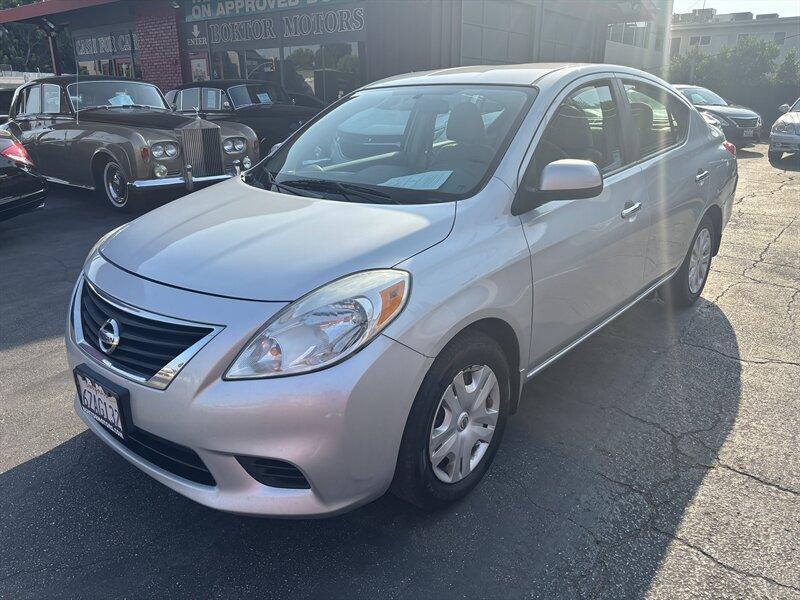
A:
[[[81,293],[83,339],[117,369],[150,379],[184,350],[213,329],[191,327],[148,319],[125,311],[101,298],[88,283]],[[110,354],[100,346],[100,328],[114,319],[119,327],[119,344]]]

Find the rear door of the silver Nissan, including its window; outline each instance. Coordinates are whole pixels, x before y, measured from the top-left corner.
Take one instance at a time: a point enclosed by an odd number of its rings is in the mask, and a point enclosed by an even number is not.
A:
[[[643,78],[624,75],[619,82],[648,191],[644,279],[650,283],[683,261],[708,198],[708,157],[702,145],[688,143],[692,111],[683,98]]]

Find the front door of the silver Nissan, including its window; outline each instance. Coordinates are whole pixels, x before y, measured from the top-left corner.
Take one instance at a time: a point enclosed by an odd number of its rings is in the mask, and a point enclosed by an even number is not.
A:
[[[649,221],[647,190],[623,143],[611,78],[565,90],[547,123],[525,177],[536,181],[554,160],[589,160],[600,168],[604,189],[595,198],[545,202],[521,216],[533,265],[534,368],[641,291]]]

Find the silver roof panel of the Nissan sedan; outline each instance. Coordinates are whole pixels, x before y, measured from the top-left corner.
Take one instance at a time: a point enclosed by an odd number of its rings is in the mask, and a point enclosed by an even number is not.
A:
[[[430,85],[430,84],[483,84],[483,85],[534,85],[537,81],[550,75],[559,73],[569,75],[590,75],[603,72],[624,72],[634,75],[648,75],[638,69],[622,67],[620,65],[603,65],[588,63],[529,63],[520,65],[476,65],[469,67],[454,67],[451,69],[437,69],[418,73],[406,73],[388,77],[365,88],[399,86],[399,85]]]

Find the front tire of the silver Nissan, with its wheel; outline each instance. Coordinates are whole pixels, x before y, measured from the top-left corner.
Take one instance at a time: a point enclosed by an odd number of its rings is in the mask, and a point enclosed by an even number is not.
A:
[[[508,360],[495,340],[477,331],[453,339],[434,361],[411,407],[392,493],[432,510],[472,491],[502,441],[510,381]]]

